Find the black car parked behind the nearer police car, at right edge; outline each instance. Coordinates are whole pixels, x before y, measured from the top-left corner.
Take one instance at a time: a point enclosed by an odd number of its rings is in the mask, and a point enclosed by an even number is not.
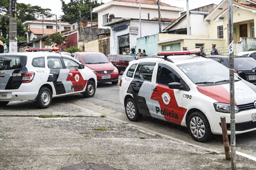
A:
[[[214,55],[207,57],[229,68],[228,56]],[[252,57],[234,56],[234,69],[241,78],[256,85],[256,60]]]

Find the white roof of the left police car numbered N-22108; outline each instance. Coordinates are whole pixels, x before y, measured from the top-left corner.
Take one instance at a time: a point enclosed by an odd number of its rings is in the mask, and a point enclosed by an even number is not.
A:
[[[44,57],[46,55],[48,56],[63,56],[63,57],[68,57],[68,58],[73,58],[69,55],[66,54],[61,54],[61,53],[50,53],[50,52],[18,52],[18,53],[2,53],[0,54],[0,56],[3,55],[23,55],[23,56],[27,56],[27,57]]]

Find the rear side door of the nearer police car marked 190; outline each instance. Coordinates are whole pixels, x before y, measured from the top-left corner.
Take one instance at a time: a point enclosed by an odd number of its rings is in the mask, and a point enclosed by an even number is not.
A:
[[[148,116],[150,116],[152,112],[150,91],[153,89],[152,75],[155,65],[156,63],[154,62],[139,63],[135,71],[134,79],[127,90],[127,93],[133,95],[139,113]]]

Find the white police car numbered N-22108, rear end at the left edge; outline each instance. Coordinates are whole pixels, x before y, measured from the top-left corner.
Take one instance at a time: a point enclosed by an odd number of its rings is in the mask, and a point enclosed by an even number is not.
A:
[[[58,53],[0,54],[0,106],[34,100],[47,108],[52,97],[83,93],[93,97],[95,73],[76,59]]]

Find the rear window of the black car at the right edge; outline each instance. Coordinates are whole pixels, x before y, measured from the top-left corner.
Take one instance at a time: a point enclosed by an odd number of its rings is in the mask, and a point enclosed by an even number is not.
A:
[[[256,68],[256,60],[251,57],[234,57],[235,69],[252,69]]]

